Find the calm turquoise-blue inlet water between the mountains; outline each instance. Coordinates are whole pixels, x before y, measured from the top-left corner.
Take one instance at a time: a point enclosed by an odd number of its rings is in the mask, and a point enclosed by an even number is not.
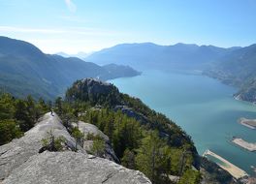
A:
[[[210,149],[255,175],[256,152],[229,142],[233,136],[256,141],[256,131],[238,123],[240,117],[256,118],[256,106],[236,101],[235,88],[201,75],[159,71],[110,82],[170,117],[193,138],[200,154]]]

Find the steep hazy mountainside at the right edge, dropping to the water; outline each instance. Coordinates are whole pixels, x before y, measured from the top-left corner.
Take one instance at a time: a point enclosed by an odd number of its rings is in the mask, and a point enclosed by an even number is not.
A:
[[[232,51],[212,63],[205,74],[238,87],[236,98],[256,102],[256,45]]]

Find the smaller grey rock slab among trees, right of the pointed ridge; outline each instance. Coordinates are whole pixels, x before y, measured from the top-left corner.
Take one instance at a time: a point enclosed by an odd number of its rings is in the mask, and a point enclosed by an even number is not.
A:
[[[94,136],[99,136],[100,138],[103,138],[103,140],[105,141],[105,148],[104,148],[104,154],[102,157],[110,161],[113,161],[117,164],[120,163],[119,159],[116,157],[112,149],[110,138],[106,136],[103,132],[101,132],[98,129],[98,127],[90,123],[84,123],[82,121],[79,121],[78,124],[76,124],[75,126],[79,127],[80,132],[84,134],[85,138],[87,137],[88,134],[93,134]],[[83,148],[88,152],[91,151],[92,145],[93,145],[93,140],[85,139],[83,141]]]

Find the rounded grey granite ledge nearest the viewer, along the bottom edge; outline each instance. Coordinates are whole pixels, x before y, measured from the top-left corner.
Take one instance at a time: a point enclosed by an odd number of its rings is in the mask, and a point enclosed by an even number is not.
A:
[[[32,156],[12,171],[3,184],[150,184],[144,174],[125,169],[107,159],[71,151]]]

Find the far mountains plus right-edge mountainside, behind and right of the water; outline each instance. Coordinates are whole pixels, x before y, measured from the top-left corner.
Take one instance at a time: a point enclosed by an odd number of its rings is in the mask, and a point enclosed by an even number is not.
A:
[[[197,70],[239,88],[234,94],[238,99],[256,102],[256,45],[224,48],[123,44],[94,52],[86,61],[99,65],[124,64],[140,70]]]

